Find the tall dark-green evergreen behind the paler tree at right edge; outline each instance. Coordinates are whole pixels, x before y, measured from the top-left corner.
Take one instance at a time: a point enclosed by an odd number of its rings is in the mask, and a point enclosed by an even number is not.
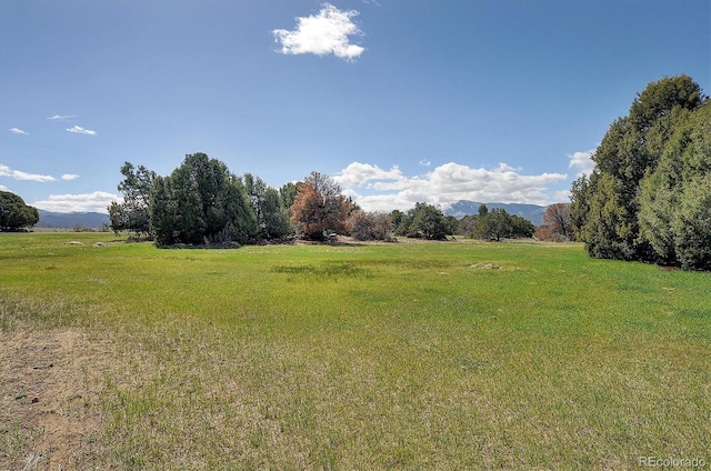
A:
[[[687,76],[664,78],[639,93],[627,117],[615,120],[595,150],[595,169],[572,188],[571,221],[592,257],[653,260],[641,237],[642,181],[654,172],[674,129],[704,102]]]

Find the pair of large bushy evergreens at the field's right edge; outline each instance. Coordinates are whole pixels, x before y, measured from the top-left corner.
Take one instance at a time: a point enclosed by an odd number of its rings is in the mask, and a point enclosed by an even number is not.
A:
[[[570,207],[590,255],[711,270],[711,104],[699,84],[650,83],[592,160]]]

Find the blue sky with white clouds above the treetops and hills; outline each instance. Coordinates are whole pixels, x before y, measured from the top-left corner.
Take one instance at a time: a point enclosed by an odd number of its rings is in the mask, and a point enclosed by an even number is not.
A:
[[[367,210],[565,201],[651,81],[711,92],[708,0],[0,1],[0,189],[103,211],[206,152]]]

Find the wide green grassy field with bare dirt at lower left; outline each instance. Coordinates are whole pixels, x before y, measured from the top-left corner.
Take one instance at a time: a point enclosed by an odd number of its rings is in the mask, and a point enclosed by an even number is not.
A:
[[[709,465],[709,292],[579,244],[0,234],[0,469]]]

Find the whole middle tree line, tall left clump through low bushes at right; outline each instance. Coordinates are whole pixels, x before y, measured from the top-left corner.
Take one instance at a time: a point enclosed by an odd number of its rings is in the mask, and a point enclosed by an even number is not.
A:
[[[233,247],[296,237],[323,241],[333,234],[388,241],[397,236],[443,240],[458,233],[500,240],[535,231],[530,221],[485,206],[462,221],[424,202],[407,212],[367,212],[322,173],[277,189],[251,173],[237,176],[204,153],[186,156],[166,177],[131,162],[120,171],[123,200],[108,208],[111,228],[160,247]]]

